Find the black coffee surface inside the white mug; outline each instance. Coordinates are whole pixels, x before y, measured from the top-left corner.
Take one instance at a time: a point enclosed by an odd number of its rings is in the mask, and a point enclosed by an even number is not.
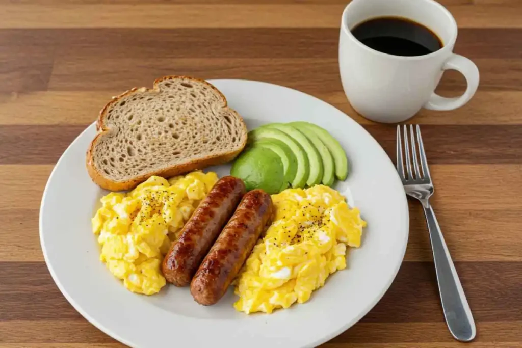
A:
[[[443,46],[430,29],[401,17],[372,18],[359,23],[351,32],[375,51],[396,56],[422,56]]]

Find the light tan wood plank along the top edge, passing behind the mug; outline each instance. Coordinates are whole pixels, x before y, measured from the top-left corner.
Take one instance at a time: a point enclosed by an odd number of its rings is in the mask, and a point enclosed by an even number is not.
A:
[[[0,28],[337,28],[345,4],[0,5]],[[520,28],[502,6],[448,6],[462,28]]]

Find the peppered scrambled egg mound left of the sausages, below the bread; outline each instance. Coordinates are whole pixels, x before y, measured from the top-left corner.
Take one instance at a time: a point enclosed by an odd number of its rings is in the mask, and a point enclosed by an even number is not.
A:
[[[92,218],[100,260],[125,287],[151,295],[165,285],[160,265],[183,225],[218,181],[197,171],[168,181],[151,176],[129,193],[110,193]]]

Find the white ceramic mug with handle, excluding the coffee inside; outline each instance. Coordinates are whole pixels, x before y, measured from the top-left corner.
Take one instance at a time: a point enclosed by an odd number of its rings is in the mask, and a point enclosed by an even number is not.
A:
[[[443,47],[422,56],[396,56],[375,51],[350,32],[371,18],[394,16],[418,22],[442,40]],[[433,0],[353,0],[342,14],[339,69],[342,87],[353,109],[373,121],[405,121],[422,107],[453,110],[466,104],[479,85],[479,70],[468,58],[454,54],[457,23]],[[444,70],[460,71],[467,88],[457,98],[434,92]]]

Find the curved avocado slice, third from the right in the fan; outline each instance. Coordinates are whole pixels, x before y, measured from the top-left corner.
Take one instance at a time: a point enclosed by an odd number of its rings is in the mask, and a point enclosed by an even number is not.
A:
[[[262,129],[264,128],[265,127],[263,127]],[[323,178],[323,161],[319,156],[319,152],[310,142],[310,140],[308,140],[308,138],[299,130],[288,124],[270,123],[266,125],[266,128],[279,129],[287,135],[289,135],[290,137],[292,137],[295,141],[299,143],[299,145],[302,146],[302,148],[306,152],[306,155],[308,156],[308,160],[310,161],[310,174],[306,179],[306,185],[314,186],[316,184],[320,184],[321,179]]]

